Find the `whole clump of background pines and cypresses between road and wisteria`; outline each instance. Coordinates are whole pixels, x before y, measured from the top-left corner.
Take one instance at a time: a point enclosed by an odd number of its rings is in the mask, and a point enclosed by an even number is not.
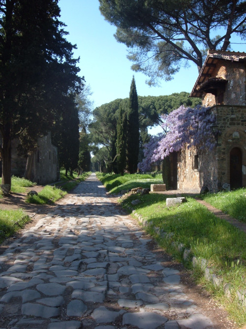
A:
[[[137,171],[144,157],[144,145],[151,135],[148,128],[162,125],[162,115],[181,105],[195,107],[199,98],[190,98],[187,92],[165,96],[138,96],[134,77],[129,98],[116,99],[93,110],[89,124],[92,164],[95,170],[115,173]],[[131,156],[130,154],[134,154]]]

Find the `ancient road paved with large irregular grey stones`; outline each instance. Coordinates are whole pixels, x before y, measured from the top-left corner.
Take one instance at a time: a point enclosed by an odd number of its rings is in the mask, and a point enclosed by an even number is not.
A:
[[[0,255],[0,328],[218,328],[149,241],[92,174]]]

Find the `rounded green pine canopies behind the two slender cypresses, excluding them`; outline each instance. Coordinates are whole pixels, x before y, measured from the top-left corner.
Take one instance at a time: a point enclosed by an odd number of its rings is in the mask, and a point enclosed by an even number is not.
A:
[[[161,114],[169,113],[181,105],[195,107],[200,104],[199,98],[190,98],[187,92],[173,93],[166,96],[138,96],[138,116],[140,129],[139,161],[143,159],[142,144],[150,139],[148,127],[162,123]],[[120,108],[128,110],[129,98],[116,99],[113,102],[103,104],[93,110],[93,122],[89,125],[90,139],[93,145],[105,146],[106,151],[95,149],[93,153],[97,159],[95,163],[104,163],[108,169],[115,171],[114,159],[116,155],[115,142],[117,137],[117,122],[120,117]],[[106,159],[106,153],[108,157]],[[101,154],[102,158],[99,159]],[[93,159],[93,161],[95,160]],[[99,162],[98,162],[99,161]],[[105,162],[106,161],[106,162]],[[113,164],[113,165],[112,165]]]

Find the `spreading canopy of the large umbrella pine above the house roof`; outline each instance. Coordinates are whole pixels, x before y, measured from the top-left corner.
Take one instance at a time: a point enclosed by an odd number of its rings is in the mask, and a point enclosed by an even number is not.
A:
[[[202,68],[208,49],[227,50],[246,35],[244,0],[99,0],[105,19],[129,48],[132,70],[170,79],[188,62]],[[217,30],[221,35],[216,35]]]

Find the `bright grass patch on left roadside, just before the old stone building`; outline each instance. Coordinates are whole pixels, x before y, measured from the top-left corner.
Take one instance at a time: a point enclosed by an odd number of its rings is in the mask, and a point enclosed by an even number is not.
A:
[[[56,186],[46,185],[37,195],[30,195],[27,197],[28,203],[35,204],[54,204],[57,200],[61,199],[66,194]]]

